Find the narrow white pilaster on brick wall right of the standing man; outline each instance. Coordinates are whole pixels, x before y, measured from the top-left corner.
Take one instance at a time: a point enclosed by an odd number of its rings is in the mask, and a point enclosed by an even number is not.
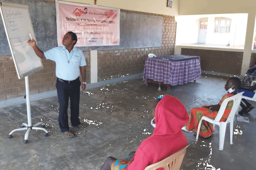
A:
[[[98,82],[98,51],[90,51],[91,83]]]

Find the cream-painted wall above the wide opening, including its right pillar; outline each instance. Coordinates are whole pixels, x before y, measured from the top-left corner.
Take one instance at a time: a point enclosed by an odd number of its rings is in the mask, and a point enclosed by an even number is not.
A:
[[[249,68],[253,47],[253,34],[256,16],[255,0],[180,0],[179,15],[198,15],[198,14],[236,14],[247,13],[247,27],[241,75],[244,75]],[[177,23],[177,26],[179,23]],[[178,37],[177,37],[178,38]],[[180,49],[175,49],[180,51]]]

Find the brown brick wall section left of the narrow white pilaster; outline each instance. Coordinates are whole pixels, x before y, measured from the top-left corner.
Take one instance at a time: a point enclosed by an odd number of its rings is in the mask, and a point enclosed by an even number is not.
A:
[[[90,83],[90,51],[84,51]],[[56,90],[55,62],[42,59],[44,68],[29,75],[29,94]],[[0,100],[26,95],[25,78],[18,79],[12,56],[0,56]]]

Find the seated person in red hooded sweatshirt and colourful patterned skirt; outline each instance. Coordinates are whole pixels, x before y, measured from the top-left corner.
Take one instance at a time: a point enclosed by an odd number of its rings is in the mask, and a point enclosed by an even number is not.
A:
[[[141,142],[135,154],[122,159],[110,156],[100,170],[144,170],[187,146],[188,141],[181,128],[189,121],[189,116],[177,98],[163,96],[155,108],[154,118],[153,134]]]

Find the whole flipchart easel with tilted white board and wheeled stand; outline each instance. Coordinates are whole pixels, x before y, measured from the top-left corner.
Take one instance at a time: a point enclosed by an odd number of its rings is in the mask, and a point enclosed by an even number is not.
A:
[[[23,123],[20,128],[12,130],[8,134],[8,138],[12,138],[12,133],[20,130],[27,130],[23,143],[28,142],[30,130],[44,130],[44,136],[48,136],[48,131],[44,128],[43,122],[32,125],[31,109],[29,97],[29,75],[43,68],[41,59],[36,56],[35,51],[28,44],[29,37],[35,39],[32,22],[29,15],[29,7],[27,5],[0,2],[0,12],[6,37],[12,53],[12,58],[19,79],[25,77],[26,85],[26,108],[28,123]],[[31,35],[32,34],[32,35]],[[36,127],[41,125],[41,127]]]

